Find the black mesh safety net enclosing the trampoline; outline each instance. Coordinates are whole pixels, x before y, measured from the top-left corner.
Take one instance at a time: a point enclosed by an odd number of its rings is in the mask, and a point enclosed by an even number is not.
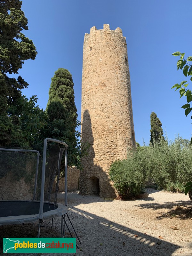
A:
[[[0,202],[4,202],[0,218],[39,212],[43,148],[43,144],[33,148],[0,148]],[[43,212],[58,207],[57,192],[64,150],[63,145],[46,144]],[[10,201],[12,208],[9,207]]]

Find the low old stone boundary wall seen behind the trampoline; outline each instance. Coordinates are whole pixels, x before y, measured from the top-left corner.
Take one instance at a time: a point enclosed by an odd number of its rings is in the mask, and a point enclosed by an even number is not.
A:
[[[68,167],[68,190],[79,189],[80,170],[76,167]],[[59,190],[64,191],[65,178],[60,179]],[[55,191],[55,182],[53,184]],[[20,181],[14,180],[12,173],[0,179],[0,200],[32,200],[33,191],[24,179]]]

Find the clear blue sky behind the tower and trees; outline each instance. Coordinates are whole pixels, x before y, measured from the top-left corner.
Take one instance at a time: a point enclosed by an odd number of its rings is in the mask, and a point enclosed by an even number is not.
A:
[[[179,100],[179,92],[171,90],[172,85],[189,80],[177,71],[178,57],[171,53],[192,55],[191,1],[24,0],[22,10],[29,27],[23,33],[33,40],[38,54],[25,62],[19,75],[29,83],[23,93],[36,94],[42,108],[46,108],[54,72],[66,68],[73,76],[81,119],[84,34],[93,26],[102,29],[110,24],[110,29],[120,27],[126,36],[136,141],[142,145],[142,138],[150,140],[152,111],[170,139],[178,133],[191,138],[192,121],[181,108],[185,99]]]

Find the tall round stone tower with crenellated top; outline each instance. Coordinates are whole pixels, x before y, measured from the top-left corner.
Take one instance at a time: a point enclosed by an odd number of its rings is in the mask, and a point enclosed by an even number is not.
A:
[[[109,167],[135,146],[127,44],[121,28],[92,27],[84,36],[82,142],[89,142],[80,172],[82,195],[116,196]]]

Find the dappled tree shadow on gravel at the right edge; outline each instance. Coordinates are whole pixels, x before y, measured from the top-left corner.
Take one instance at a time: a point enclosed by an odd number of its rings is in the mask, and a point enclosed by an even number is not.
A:
[[[190,202],[186,201],[174,201],[174,203],[164,202],[163,204],[158,203],[149,203],[149,204],[137,204],[141,209],[153,209],[161,210],[167,209],[167,212],[159,212],[159,216],[156,219],[163,219],[163,218],[172,218],[176,217],[181,220],[192,218],[192,212],[189,210],[191,209]]]

